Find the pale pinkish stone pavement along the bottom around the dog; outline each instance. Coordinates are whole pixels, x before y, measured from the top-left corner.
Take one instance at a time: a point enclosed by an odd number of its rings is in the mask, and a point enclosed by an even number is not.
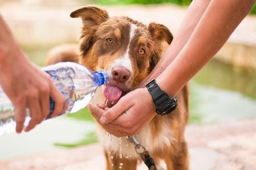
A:
[[[188,125],[191,170],[255,170],[256,119],[229,124]],[[104,169],[100,144],[62,149],[0,162],[5,170]],[[139,170],[146,169],[142,164]]]

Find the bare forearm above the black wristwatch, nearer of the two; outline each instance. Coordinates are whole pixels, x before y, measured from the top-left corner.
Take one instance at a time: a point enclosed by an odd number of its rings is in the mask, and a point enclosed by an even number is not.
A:
[[[160,87],[175,96],[220,50],[254,2],[212,0],[187,44],[157,78]]]

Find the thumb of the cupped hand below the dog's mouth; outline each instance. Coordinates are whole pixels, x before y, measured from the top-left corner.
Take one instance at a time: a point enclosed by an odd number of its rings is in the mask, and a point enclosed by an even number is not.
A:
[[[123,96],[112,108],[109,108],[100,118],[101,124],[109,124],[115,120],[123,112],[127,111],[131,107],[131,100],[129,97]]]

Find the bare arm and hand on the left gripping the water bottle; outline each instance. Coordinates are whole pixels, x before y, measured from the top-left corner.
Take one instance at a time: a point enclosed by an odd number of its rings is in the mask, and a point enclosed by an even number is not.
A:
[[[62,112],[65,98],[49,75],[29,61],[1,14],[0,30],[0,84],[15,107],[17,133],[23,129],[26,108],[30,109],[25,129],[29,131],[49,114],[50,96],[55,101],[53,117]]]

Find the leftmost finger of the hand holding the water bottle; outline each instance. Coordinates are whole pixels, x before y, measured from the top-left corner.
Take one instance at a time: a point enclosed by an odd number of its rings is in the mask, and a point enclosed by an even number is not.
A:
[[[26,100],[21,100],[19,105],[15,106],[16,132],[21,133],[26,118]]]

